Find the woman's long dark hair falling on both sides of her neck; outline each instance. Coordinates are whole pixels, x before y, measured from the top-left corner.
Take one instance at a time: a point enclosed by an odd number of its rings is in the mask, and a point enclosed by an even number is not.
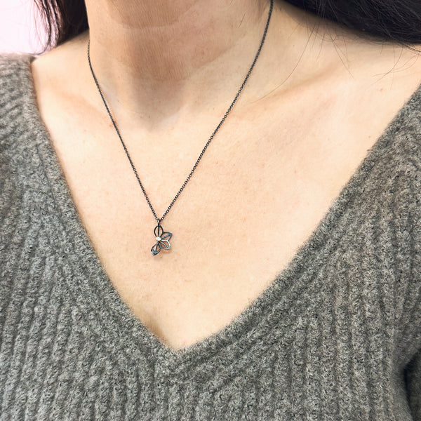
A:
[[[34,0],[47,30],[48,48],[88,29],[84,0]],[[421,44],[420,0],[287,0],[306,11],[332,20],[356,33],[407,48]]]

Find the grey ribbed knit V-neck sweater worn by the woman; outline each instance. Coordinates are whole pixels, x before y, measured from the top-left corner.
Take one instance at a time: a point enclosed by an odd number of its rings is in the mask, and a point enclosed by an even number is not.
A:
[[[421,420],[421,86],[288,267],[176,352],[100,265],[30,60],[0,56],[1,421]]]

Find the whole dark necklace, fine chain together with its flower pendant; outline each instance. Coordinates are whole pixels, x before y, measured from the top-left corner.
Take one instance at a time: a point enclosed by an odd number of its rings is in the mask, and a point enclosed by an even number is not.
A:
[[[88,63],[89,63],[89,68],[91,69],[91,73],[92,73],[93,79],[94,79],[95,84],[96,84],[96,86],[98,88],[98,91],[99,91],[99,93],[101,95],[102,102],[104,102],[105,108],[107,109],[109,118],[111,119],[111,121],[113,123],[113,126],[116,129],[117,135],[119,135],[119,138],[121,140],[121,144],[123,145],[124,151],[126,152],[126,155],[128,157],[128,161],[130,161],[131,167],[133,168],[133,171],[135,173],[135,176],[138,179],[140,188],[142,189],[142,192],[143,192],[143,194],[144,194],[144,196],[145,196],[145,198],[147,200],[147,203],[149,205],[149,208],[151,208],[152,213],[154,215],[154,218],[155,218],[155,220],[157,222],[157,225],[154,228],[154,236],[155,236],[156,243],[151,248],[152,255],[157,255],[161,250],[169,250],[169,249],[171,249],[170,239],[173,236],[173,234],[171,232],[164,231],[163,230],[163,227],[161,226],[161,222],[162,222],[163,218],[166,217],[166,215],[169,212],[169,210],[173,207],[173,204],[178,199],[178,196],[180,196],[180,193],[182,192],[182,190],[186,187],[187,182],[189,182],[190,178],[192,177],[192,174],[193,174],[194,170],[196,169],[197,165],[199,164],[199,161],[201,160],[203,154],[205,153],[208,145],[210,144],[210,142],[215,137],[215,134],[220,129],[220,126],[222,126],[222,123],[225,121],[225,119],[227,119],[227,116],[228,116],[229,112],[232,110],[232,107],[234,107],[234,104],[235,104],[236,100],[238,100],[241,91],[243,91],[243,88],[246,85],[246,82],[248,80],[248,77],[250,76],[251,71],[253,70],[253,67],[255,66],[255,63],[258,60],[258,57],[260,55],[260,51],[262,50],[263,43],[265,42],[265,38],[266,38],[266,34],[267,34],[267,28],[269,27],[270,18],[272,16],[273,6],[274,6],[274,0],[270,0],[269,16],[267,18],[267,22],[266,22],[266,26],[265,26],[265,31],[263,32],[262,41],[260,42],[260,46],[258,48],[258,53],[256,53],[256,55],[255,55],[255,59],[253,60],[253,64],[251,65],[250,69],[248,70],[248,73],[246,75],[246,79],[244,79],[243,83],[241,84],[241,87],[239,88],[239,91],[236,93],[234,100],[232,101],[231,105],[229,105],[229,108],[227,109],[227,112],[225,112],[224,116],[222,117],[222,120],[220,121],[220,123],[218,124],[218,126],[216,126],[216,128],[213,131],[212,135],[210,135],[210,138],[208,139],[208,142],[206,142],[205,147],[203,147],[203,149],[202,149],[202,151],[201,151],[201,153],[199,155],[199,158],[197,159],[196,163],[194,163],[194,166],[192,168],[192,171],[190,171],[189,175],[187,175],[187,178],[186,178],[185,182],[183,182],[182,186],[180,187],[180,190],[178,190],[177,194],[175,194],[173,201],[171,201],[170,206],[168,206],[168,208],[163,213],[163,215],[161,216],[161,218],[158,218],[158,216],[156,215],[156,212],[155,212],[155,210],[154,210],[154,208],[152,206],[152,203],[149,201],[149,197],[147,196],[147,194],[145,192],[145,188],[143,187],[142,182],[140,181],[138,172],[136,171],[136,168],[133,165],[133,161],[131,160],[131,157],[128,154],[128,150],[126,148],[126,145],[124,144],[123,139],[121,138],[119,128],[117,128],[117,125],[116,125],[116,123],[115,123],[115,121],[114,121],[114,119],[112,117],[112,114],[109,111],[109,107],[107,105],[107,102],[105,101],[104,95],[102,94],[102,91],[101,91],[101,88],[100,88],[100,84],[98,83],[98,80],[97,80],[97,78],[95,76],[95,73],[93,72],[93,68],[92,68],[92,64],[91,64],[91,55],[89,54],[89,46],[90,46],[91,40],[88,39]]]

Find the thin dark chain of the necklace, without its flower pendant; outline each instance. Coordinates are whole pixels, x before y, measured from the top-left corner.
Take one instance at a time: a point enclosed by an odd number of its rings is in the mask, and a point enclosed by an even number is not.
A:
[[[135,176],[138,179],[140,188],[142,189],[142,192],[143,192],[143,194],[145,196],[145,199],[147,200],[147,203],[149,205],[149,208],[151,208],[152,213],[154,214],[154,218],[155,218],[156,222],[161,222],[163,220],[163,218],[166,217],[166,215],[168,214],[169,210],[173,207],[173,204],[178,199],[178,196],[180,196],[180,193],[186,187],[187,182],[189,182],[190,178],[192,177],[192,174],[194,173],[194,170],[198,166],[199,161],[201,160],[203,154],[205,153],[208,145],[213,140],[213,138],[215,137],[216,133],[218,132],[218,130],[222,126],[222,123],[224,123],[225,119],[227,119],[227,116],[228,116],[229,112],[232,110],[232,107],[234,107],[234,104],[236,103],[236,100],[238,100],[241,91],[243,91],[243,88],[246,85],[246,82],[248,80],[248,77],[250,76],[250,74],[251,74],[251,72],[253,70],[253,67],[255,67],[255,63],[258,61],[258,57],[260,55],[260,51],[262,50],[263,43],[265,42],[265,38],[266,38],[266,34],[267,34],[267,29],[269,27],[270,18],[272,16],[273,6],[274,6],[274,0],[270,0],[269,16],[267,18],[267,22],[266,22],[266,26],[265,26],[265,31],[263,32],[262,41],[260,42],[260,46],[258,48],[258,53],[255,55],[255,59],[253,60],[253,64],[251,65],[250,69],[248,70],[248,73],[246,75],[246,79],[244,79],[243,83],[241,84],[241,87],[239,88],[239,91],[236,93],[234,100],[232,101],[231,105],[229,105],[229,108],[227,109],[227,112],[225,112],[224,116],[222,117],[222,120],[220,121],[220,123],[218,124],[218,126],[216,126],[216,128],[213,131],[212,135],[210,135],[210,138],[209,138],[208,142],[206,142],[205,147],[203,147],[203,149],[202,149],[202,151],[201,151],[201,153],[199,155],[199,158],[197,159],[196,163],[194,163],[194,166],[192,168],[192,171],[190,171],[189,175],[187,175],[187,178],[186,178],[185,182],[182,183],[182,186],[180,187],[180,190],[178,190],[177,194],[175,194],[173,201],[171,201],[170,206],[168,206],[168,208],[163,213],[163,215],[161,216],[161,218],[158,218],[158,216],[156,215],[156,212],[155,212],[155,210],[154,210],[154,208],[152,206],[152,203],[151,203],[151,201],[149,200],[149,197],[146,194],[145,188],[143,187],[142,182],[140,181],[140,178],[139,178],[139,175],[138,175],[138,171],[136,171],[136,168],[133,165],[133,161],[131,160],[131,157],[128,154],[128,150],[126,148],[126,145],[124,144],[123,139],[121,138],[121,134],[120,134],[119,128],[117,127],[116,122],[114,121],[114,119],[112,117],[112,114],[109,111],[109,107],[107,105],[107,102],[105,101],[104,95],[102,94],[102,91],[101,91],[101,88],[100,88],[100,84],[98,83],[98,80],[97,80],[97,78],[95,76],[95,73],[93,72],[93,68],[92,68],[92,64],[91,64],[91,55],[89,54],[89,47],[90,47],[91,40],[88,39],[88,63],[89,63],[89,68],[91,69],[91,73],[92,73],[93,79],[94,79],[95,84],[96,84],[96,86],[98,88],[98,91],[99,91],[99,93],[101,95],[102,101],[104,102],[105,108],[107,109],[109,118],[111,119],[111,121],[112,121],[112,123],[114,125],[114,128],[116,129],[116,132],[119,135],[119,138],[121,140],[121,144],[123,145],[123,148],[124,148],[124,150],[126,152],[126,155],[128,157],[128,161],[130,161],[130,163],[131,163],[131,167],[133,168],[133,171],[135,173]]]

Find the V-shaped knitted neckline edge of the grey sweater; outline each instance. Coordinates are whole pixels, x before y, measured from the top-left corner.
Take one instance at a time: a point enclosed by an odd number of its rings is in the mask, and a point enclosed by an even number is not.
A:
[[[395,114],[369,149],[359,167],[347,181],[340,194],[333,201],[327,212],[313,230],[307,240],[302,243],[288,265],[284,267],[275,279],[263,290],[253,302],[243,309],[232,321],[218,332],[213,333],[199,342],[183,349],[173,349],[163,344],[138,319],[128,305],[121,299],[105,268],[96,255],[91,240],[88,237],[81,218],[76,210],[65,175],[58,161],[58,156],[53,148],[53,142],[48,133],[36,101],[36,92],[32,75],[31,62],[34,55],[22,55],[25,60],[25,74],[22,81],[27,83],[22,89],[25,90],[25,118],[28,130],[34,133],[34,149],[37,150],[41,161],[44,163],[44,172],[48,180],[55,206],[60,215],[62,228],[68,233],[67,239],[68,259],[78,271],[65,279],[69,290],[79,305],[90,326],[101,335],[101,332],[112,333],[114,338],[113,347],[125,352],[131,359],[147,358],[162,367],[177,372],[181,367],[186,368],[194,363],[205,361],[227,347],[234,347],[239,341],[246,341],[253,336],[253,329],[259,323],[264,323],[274,309],[274,305],[283,300],[284,309],[293,305],[293,296],[300,294],[307,288],[306,283],[300,283],[298,279],[303,272],[314,272],[321,269],[323,262],[328,257],[329,250],[333,248],[334,241],[327,241],[329,236],[335,236],[341,215],[350,206],[354,196],[357,196],[364,180],[379,160],[385,149],[394,139],[394,131],[405,121],[406,114],[415,102],[419,101],[421,85],[413,92],[410,99],[405,102],[399,112]],[[29,145],[32,147],[32,145]],[[62,241],[62,239],[61,239]],[[60,243],[62,244],[62,243]],[[317,259],[316,259],[317,257]],[[310,262],[312,265],[310,265]],[[315,265],[315,262],[319,262]],[[100,306],[100,310],[98,309]],[[130,344],[127,347],[127,344]],[[240,347],[239,347],[240,348]],[[240,352],[240,350],[239,350]]]

